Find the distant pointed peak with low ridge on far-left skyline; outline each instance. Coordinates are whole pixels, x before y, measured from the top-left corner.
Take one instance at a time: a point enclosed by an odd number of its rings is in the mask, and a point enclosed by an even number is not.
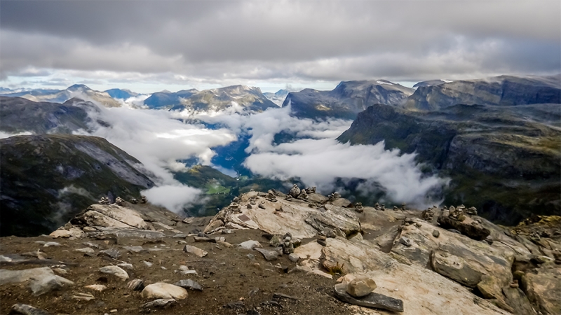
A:
[[[119,107],[121,104],[107,92],[95,91],[83,84],[75,84],[66,90],[39,90],[2,94],[7,97],[22,97],[34,102],[63,103],[74,97],[94,102],[106,107]]]

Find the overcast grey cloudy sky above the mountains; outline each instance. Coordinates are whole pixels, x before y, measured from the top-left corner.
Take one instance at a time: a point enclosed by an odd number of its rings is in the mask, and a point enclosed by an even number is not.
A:
[[[0,86],[137,92],[561,72],[561,1],[4,1]]]

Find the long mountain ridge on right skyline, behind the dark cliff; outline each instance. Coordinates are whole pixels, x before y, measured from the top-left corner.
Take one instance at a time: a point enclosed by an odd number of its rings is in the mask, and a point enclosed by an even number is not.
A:
[[[407,99],[405,107],[434,111],[456,104],[513,106],[547,103],[561,104],[561,75],[497,76],[419,86]]]

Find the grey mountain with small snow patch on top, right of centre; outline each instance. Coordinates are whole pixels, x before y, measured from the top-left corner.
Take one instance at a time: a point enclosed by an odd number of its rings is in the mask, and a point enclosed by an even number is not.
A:
[[[291,92],[283,102],[294,116],[302,118],[354,119],[374,104],[400,106],[414,90],[387,80],[343,81],[331,91],[305,89]]]

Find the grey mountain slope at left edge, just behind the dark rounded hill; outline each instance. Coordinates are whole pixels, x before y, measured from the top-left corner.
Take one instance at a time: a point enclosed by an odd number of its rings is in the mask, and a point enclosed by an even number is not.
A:
[[[0,130],[12,134],[69,134],[88,130],[88,111],[97,110],[95,104],[81,99],[69,99],[59,104],[0,97]]]

